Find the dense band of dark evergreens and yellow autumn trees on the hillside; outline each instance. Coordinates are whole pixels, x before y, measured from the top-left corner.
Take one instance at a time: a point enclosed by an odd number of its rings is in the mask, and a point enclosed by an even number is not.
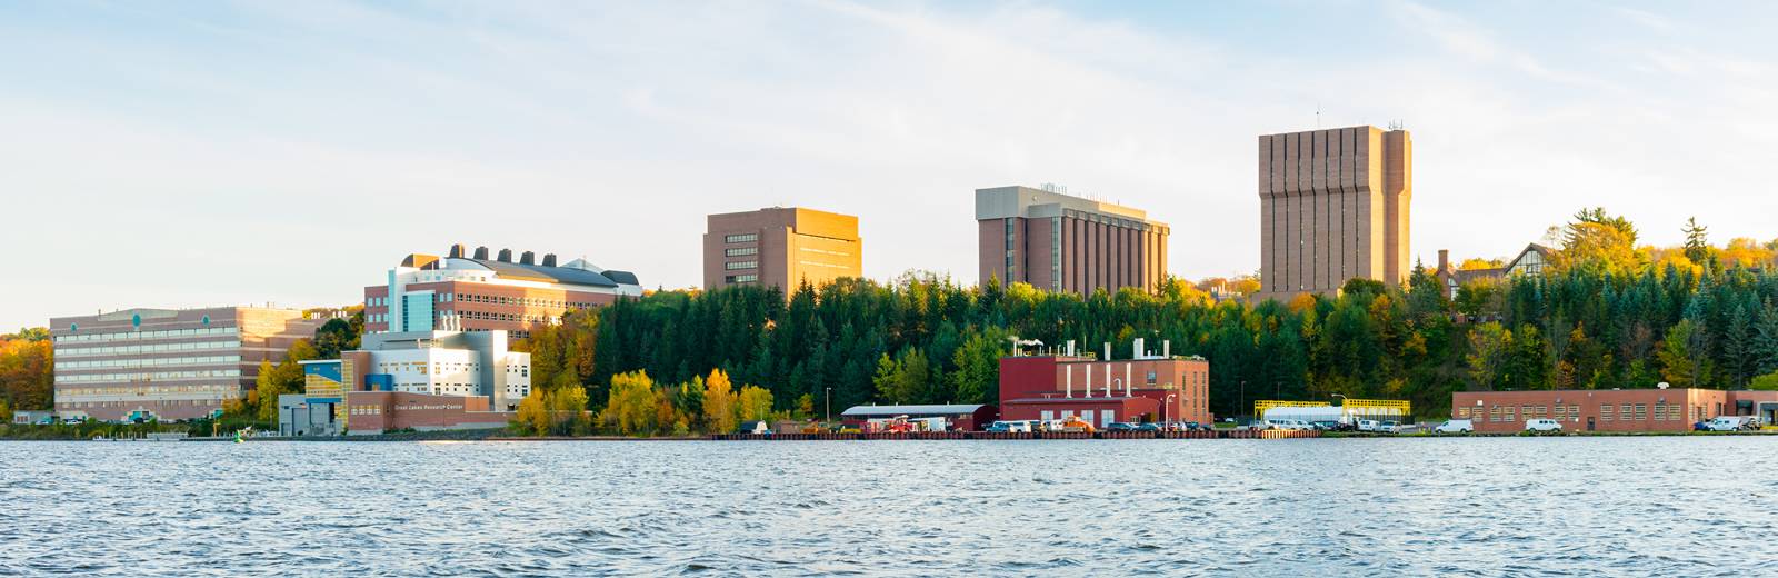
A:
[[[1085,352],[1113,343],[1117,356],[1133,338],[1168,340],[1173,354],[1211,361],[1220,416],[1259,398],[1401,398],[1435,418],[1462,389],[1778,388],[1778,242],[1712,247],[1689,222],[1684,247],[1638,245],[1634,224],[1602,208],[1552,233],[1559,247],[1542,272],[1469,281],[1454,295],[1421,265],[1401,286],[1353,279],[1337,295],[1257,304],[1218,302],[1181,279],[1077,295],[905,274],[788,295],[653,292],[569,313],[521,347],[539,389],[583,388],[594,416],[644,397],[622,377],[633,372],[649,375],[654,405],[713,370],[770,393],[782,416],[992,404],[1012,338],[1074,340]]]

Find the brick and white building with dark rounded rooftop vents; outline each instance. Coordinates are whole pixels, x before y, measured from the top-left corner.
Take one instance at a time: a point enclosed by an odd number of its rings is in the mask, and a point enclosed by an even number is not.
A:
[[[562,313],[597,308],[619,297],[642,295],[637,276],[599,269],[587,260],[557,263],[530,251],[514,258],[487,247],[473,254],[452,245],[444,258],[409,254],[389,270],[388,283],[364,288],[366,333],[509,331],[528,338],[530,329]]]

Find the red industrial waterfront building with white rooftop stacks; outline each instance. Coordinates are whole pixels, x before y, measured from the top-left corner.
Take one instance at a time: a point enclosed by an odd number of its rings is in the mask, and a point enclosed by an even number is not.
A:
[[[1065,354],[1001,357],[1001,420],[1079,416],[1095,427],[1113,421],[1211,423],[1209,361],[1173,357],[1165,349],[1152,356],[1141,349],[1141,340],[1133,354],[1133,359],[1109,361]]]

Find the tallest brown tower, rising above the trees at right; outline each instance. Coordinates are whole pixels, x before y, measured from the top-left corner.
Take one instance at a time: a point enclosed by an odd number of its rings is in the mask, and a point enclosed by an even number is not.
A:
[[[1332,293],[1348,279],[1401,285],[1414,140],[1406,130],[1330,128],[1259,137],[1261,295]]]

